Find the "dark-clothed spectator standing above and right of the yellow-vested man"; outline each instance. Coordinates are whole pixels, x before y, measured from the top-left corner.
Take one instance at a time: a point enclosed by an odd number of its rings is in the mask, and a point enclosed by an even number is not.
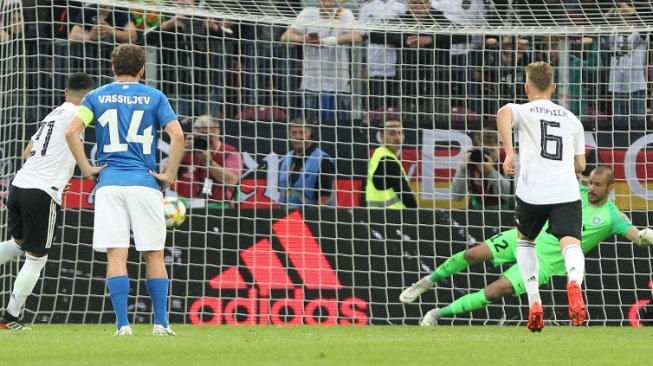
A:
[[[409,0],[407,4],[408,10],[394,19],[395,22],[429,28],[433,23],[441,26],[451,24],[441,11],[431,8],[430,0]],[[369,40],[401,50],[398,62],[402,65],[402,95],[415,96],[405,99],[402,111],[417,110],[429,115],[436,111],[449,112],[449,49],[452,43],[467,43],[466,35],[375,31],[370,32]]]

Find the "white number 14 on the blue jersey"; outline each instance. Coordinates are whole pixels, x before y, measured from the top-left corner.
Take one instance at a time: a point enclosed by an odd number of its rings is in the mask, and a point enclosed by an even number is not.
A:
[[[154,136],[152,135],[152,126],[143,130],[143,134],[138,134],[138,128],[141,125],[143,114],[145,111],[136,110],[131,116],[129,122],[129,129],[127,130],[127,141],[120,141],[120,132],[118,130],[118,110],[115,108],[107,109],[98,117],[97,121],[100,126],[104,127],[109,125],[109,144],[104,145],[103,151],[105,153],[127,151],[128,143],[134,142],[143,144],[143,154],[148,155],[152,153],[152,142]]]

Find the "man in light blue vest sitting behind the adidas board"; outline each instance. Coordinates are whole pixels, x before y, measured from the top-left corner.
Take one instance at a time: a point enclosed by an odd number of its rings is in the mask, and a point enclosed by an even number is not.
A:
[[[279,165],[279,202],[290,205],[330,205],[335,168],[331,157],[315,144],[305,119],[290,123],[292,148]]]

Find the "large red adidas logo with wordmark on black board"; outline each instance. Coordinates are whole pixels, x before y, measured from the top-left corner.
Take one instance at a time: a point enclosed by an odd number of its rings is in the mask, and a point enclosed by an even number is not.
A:
[[[338,290],[343,289],[338,275],[298,211],[272,224],[272,231],[284,253],[273,250],[268,239],[242,250],[239,254],[242,267],[229,267],[208,281],[220,297],[203,297],[191,304],[192,323],[368,323],[369,306],[365,299],[349,296],[341,300],[337,296]],[[283,255],[287,261],[280,259]],[[288,270],[296,276],[291,276]],[[247,296],[238,297],[242,292]],[[315,295],[305,296],[305,293]],[[228,294],[234,295],[230,298]]]

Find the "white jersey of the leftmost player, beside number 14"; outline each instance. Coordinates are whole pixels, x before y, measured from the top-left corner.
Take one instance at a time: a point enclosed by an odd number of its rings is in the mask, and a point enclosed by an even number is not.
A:
[[[61,204],[63,189],[75,171],[75,158],[66,142],[66,129],[75,111],[77,106],[66,102],[43,119],[32,136],[32,155],[11,184],[41,189]]]

